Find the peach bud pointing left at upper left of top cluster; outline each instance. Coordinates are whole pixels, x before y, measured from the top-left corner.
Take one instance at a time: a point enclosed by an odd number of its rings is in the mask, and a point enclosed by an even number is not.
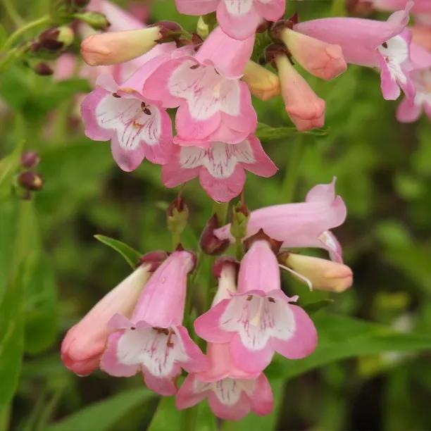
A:
[[[124,63],[145,54],[160,38],[158,26],[99,33],[82,41],[81,55],[85,63],[92,66]]]

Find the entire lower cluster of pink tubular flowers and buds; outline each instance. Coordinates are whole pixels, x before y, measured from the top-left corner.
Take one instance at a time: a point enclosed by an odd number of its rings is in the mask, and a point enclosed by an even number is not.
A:
[[[183,325],[194,254],[183,249],[146,254],[135,272],[69,330],[61,347],[65,366],[79,375],[96,368],[115,377],[142,373],[154,392],[176,394],[177,408],[208,398],[223,419],[270,413],[273,395],[263,371],[275,352],[290,360],[304,358],[317,344],[313,321],[296,305],[298,296],[281,288],[280,268],[315,289],[349,288],[351,270],[330,232],[345,217],[334,182],[311,189],[304,203],[251,212],[244,257],[215,261],[213,304],[194,320],[196,334],[208,343],[206,355]],[[226,225],[213,233],[230,241],[229,232]],[[332,261],[287,251],[316,246],[330,251]],[[182,370],[188,375],[177,389]]]

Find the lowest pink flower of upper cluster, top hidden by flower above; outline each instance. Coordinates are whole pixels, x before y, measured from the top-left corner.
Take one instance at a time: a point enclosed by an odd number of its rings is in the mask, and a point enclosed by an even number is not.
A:
[[[262,177],[277,171],[254,135],[236,145],[211,142],[206,149],[174,146],[170,161],[163,165],[162,181],[175,187],[199,175],[201,186],[212,199],[228,202],[242,192],[245,170]]]

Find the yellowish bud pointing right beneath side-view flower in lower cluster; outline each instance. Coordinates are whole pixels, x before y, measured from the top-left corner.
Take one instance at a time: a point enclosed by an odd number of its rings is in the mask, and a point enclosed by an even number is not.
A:
[[[311,281],[314,289],[344,292],[353,283],[351,269],[343,263],[289,253],[283,258],[289,268]]]

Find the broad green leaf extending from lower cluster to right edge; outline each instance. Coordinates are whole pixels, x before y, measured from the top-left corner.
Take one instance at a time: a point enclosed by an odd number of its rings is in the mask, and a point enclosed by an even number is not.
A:
[[[319,335],[316,351],[299,361],[287,362],[281,356],[275,356],[268,367],[268,376],[292,379],[314,368],[354,356],[431,349],[431,335],[428,334],[405,334],[346,316],[316,316],[313,320]]]

